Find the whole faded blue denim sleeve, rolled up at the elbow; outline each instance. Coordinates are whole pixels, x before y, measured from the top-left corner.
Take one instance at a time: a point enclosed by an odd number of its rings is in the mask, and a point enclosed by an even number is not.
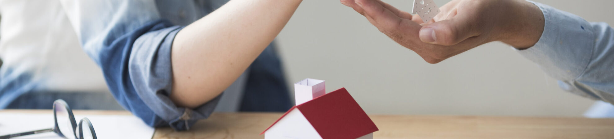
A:
[[[171,48],[182,26],[160,19],[153,1],[62,0],[84,51],[101,67],[107,86],[126,110],[149,126],[188,130],[208,118],[220,96],[190,109],[169,99]]]

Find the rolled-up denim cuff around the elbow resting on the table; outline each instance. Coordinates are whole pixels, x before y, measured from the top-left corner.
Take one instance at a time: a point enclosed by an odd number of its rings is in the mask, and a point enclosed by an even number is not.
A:
[[[171,48],[181,29],[181,26],[171,26],[143,34],[134,42],[128,64],[138,96],[163,119],[155,126],[168,124],[175,130],[189,130],[198,119],[211,115],[221,95],[195,109],[177,107],[169,99],[173,83]]]

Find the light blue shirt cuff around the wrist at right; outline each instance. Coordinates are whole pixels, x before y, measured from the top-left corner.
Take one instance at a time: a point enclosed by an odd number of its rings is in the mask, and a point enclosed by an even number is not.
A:
[[[557,80],[574,80],[584,72],[594,45],[593,27],[577,15],[529,1],[545,19],[542,37],[533,47],[518,50]]]

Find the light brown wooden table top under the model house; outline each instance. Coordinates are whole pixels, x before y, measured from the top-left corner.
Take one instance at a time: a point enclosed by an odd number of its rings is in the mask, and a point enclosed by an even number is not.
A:
[[[51,113],[50,110],[0,110]],[[76,115],[130,115],[128,111],[74,111]],[[156,129],[153,138],[264,138],[258,135],[282,113],[214,113],[189,131]],[[373,138],[614,138],[614,119],[370,115]]]

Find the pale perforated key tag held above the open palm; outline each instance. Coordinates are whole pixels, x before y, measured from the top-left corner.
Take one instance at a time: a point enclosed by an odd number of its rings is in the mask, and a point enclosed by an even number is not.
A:
[[[429,20],[433,19],[433,17],[440,12],[439,7],[437,7],[437,4],[435,4],[433,0],[414,0],[413,4],[412,13],[418,13],[424,23],[429,22]]]

